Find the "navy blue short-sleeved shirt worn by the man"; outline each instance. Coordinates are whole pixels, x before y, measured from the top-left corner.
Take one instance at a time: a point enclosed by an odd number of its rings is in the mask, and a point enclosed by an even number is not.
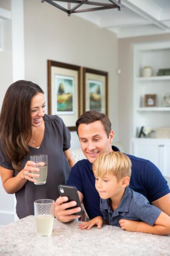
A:
[[[113,151],[119,151],[119,148],[115,146],[112,146],[112,149]],[[153,163],[132,155],[127,154],[127,156],[132,162],[129,185],[131,189],[144,195],[150,203],[170,193],[167,181]],[[77,190],[82,193],[83,204],[90,219],[102,216],[92,164],[87,159],[80,160],[74,165],[67,184],[77,187]]]

